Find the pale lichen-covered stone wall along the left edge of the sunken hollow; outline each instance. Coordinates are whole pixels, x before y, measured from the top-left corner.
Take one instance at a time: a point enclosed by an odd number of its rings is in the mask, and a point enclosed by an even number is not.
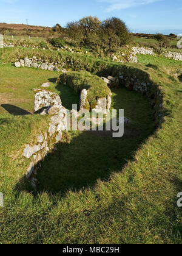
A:
[[[52,149],[53,144],[59,143],[62,130],[67,130],[67,110],[62,107],[58,94],[47,90],[35,89],[35,112],[40,115],[49,115],[48,128],[36,137],[36,143],[25,145],[23,156],[30,159],[26,177],[36,187],[38,163]]]

